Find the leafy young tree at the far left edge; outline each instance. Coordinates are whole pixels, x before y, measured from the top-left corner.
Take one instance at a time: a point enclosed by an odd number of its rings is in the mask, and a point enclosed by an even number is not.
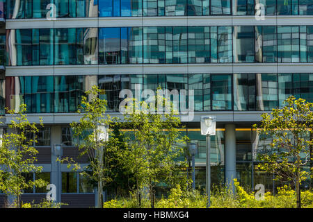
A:
[[[0,190],[7,195],[16,196],[17,208],[22,207],[21,195],[23,189],[30,187],[44,187],[44,180],[26,181],[26,173],[38,173],[42,167],[36,167],[33,163],[37,161],[35,155],[38,151],[33,147],[37,139],[38,127],[36,123],[29,123],[26,105],[19,106],[19,111],[8,110],[8,114],[15,114],[14,120],[8,125],[9,132],[4,133],[0,146]],[[42,119],[40,119],[42,126]]]

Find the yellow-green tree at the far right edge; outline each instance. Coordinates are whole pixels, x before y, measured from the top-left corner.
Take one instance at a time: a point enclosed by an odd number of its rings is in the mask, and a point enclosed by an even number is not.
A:
[[[313,123],[313,103],[290,96],[283,108],[273,109],[271,114],[261,115],[262,121],[255,124],[259,135],[272,138],[271,151],[259,153],[259,168],[275,173],[277,180],[293,182],[296,187],[297,207],[301,207],[300,183],[310,173],[302,169],[312,160],[310,139]]]

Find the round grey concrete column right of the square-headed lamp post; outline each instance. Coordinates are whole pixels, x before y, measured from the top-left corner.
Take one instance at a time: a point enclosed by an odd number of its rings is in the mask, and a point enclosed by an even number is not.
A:
[[[236,126],[225,125],[225,182],[229,184],[236,178]]]

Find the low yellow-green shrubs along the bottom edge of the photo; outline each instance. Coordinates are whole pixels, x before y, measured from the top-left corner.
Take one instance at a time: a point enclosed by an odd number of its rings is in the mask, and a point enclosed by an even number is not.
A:
[[[286,185],[278,187],[278,192],[273,196],[270,192],[264,194],[264,200],[256,200],[253,192],[248,192],[240,186],[237,180],[234,181],[235,194],[232,187],[214,186],[211,190],[211,208],[295,208],[296,193]],[[301,192],[303,196],[303,207],[313,207],[313,191]],[[200,194],[200,191],[182,190],[179,185],[170,190],[168,198],[157,200],[157,208],[205,208],[207,196]],[[105,208],[134,208],[136,200],[131,198],[121,198],[110,200],[104,203]],[[147,200],[143,202],[143,207],[149,208]]]

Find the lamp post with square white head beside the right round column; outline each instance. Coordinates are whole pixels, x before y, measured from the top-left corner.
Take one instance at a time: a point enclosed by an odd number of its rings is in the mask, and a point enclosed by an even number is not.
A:
[[[210,190],[211,190],[211,162],[210,162],[210,149],[211,149],[211,138],[210,136],[215,135],[216,130],[216,117],[205,116],[201,117],[201,135],[206,136],[206,190],[207,190],[207,208],[210,207]]]

